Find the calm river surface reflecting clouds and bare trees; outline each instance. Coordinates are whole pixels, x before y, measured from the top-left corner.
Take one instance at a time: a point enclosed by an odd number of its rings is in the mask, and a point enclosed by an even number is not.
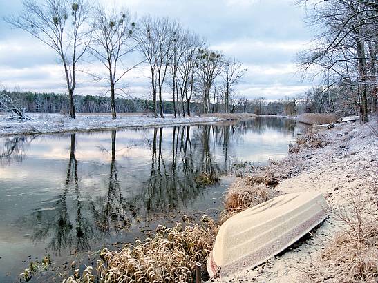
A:
[[[0,137],[0,282],[31,260],[57,262],[134,242],[182,215],[216,216],[235,162],[287,155],[301,128],[261,118],[238,123]],[[202,187],[202,172],[220,182]]]

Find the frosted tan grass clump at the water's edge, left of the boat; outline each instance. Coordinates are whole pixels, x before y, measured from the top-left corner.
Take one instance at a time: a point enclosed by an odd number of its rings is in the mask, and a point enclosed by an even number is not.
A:
[[[202,217],[200,224],[179,223],[173,228],[158,226],[156,232],[121,251],[104,249],[102,260],[97,260],[97,282],[193,282],[198,264],[202,273],[207,272],[207,256],[218,233],[212,219]],[[88,278],[92,280],[93,273],[74,274],[64,283],[95,282]]]

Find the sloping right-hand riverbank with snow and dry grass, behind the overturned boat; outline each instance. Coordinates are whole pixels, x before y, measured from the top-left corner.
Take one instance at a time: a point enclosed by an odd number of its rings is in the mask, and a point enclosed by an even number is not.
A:
[[[269,262],[216,282],[375,282],[377,148],[377,121],[337,124],[292,148],[281,162],[258,170],[238,168],[240,180],[260,176],[279,182],[274,195],[320,191],[330,217]]]

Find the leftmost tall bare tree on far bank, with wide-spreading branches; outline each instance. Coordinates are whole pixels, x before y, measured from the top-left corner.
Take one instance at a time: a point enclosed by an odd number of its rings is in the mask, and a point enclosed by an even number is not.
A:
[[[62,61],[70,97],[70,117],[76,117],[74,92],[76,67],[91,41],[87,20],[91,6],[86,0],[25,0],[23,11],[6,21],[52,48]]]

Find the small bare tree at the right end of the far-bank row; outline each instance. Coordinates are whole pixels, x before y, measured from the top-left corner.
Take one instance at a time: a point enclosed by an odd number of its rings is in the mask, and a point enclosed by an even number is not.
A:
[[[231,92],[245,72],[247,72],[247,69],[243,68],[242,64],[236,59],[227,59],[225,61],[222,72],[225,113],[229,113]]]

